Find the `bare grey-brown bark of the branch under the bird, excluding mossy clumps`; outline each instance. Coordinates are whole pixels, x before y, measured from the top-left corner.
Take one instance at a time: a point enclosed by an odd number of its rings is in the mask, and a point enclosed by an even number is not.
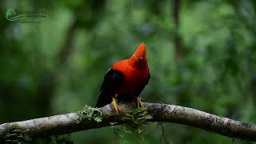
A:
[[[150,122],[174,122],[187,126],[194,126],[202,130],[207,130],[216,134],[222,134],[230,138],[240,138],[249,141],[256,141],[256,125],[234,121],[230,118],[219,117],[208,114],[200,110],[194,110],[184,106],[174,106],[162,103],[148,103],[144,106],[149,114],[153,116]],[[122,123],[122,116],[127,110],[134,108],[134,104],[121,104],[122,114],[114,114],[110,105],[103,106],[99,110],[102,112],[102,122],[94,120],[84,120],[78,123],[76,113],[60,114],[46,118],[35,118],[22,122],[9,122],[0,125],[0,140],[10,131],[12,126],[18,126],[26,130],[31,138],[47,135],[70,134],[80,130],[90,130],[102,126],[111,126],[110,122]],[[0,141],[1,142],[1,141]]]

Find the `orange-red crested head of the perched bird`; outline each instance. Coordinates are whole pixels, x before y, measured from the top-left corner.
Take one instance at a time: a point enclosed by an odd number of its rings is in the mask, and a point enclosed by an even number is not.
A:
[[[146,67],[146,45],[142,42],[134,52],[134,54],[129,58],[129,62],[132,66]]]

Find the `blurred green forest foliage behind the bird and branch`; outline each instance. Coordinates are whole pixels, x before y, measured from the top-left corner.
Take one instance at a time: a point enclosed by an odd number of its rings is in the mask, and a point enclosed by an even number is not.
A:
[[[110,66],[145,42],[150,82],[144,102],[188,106],[256,123],[256,2],[74,0],[1,2],[9,8],[46,9],[39,23],[0,19],[0,123],[64,114],[94,106]],[[182,38],[182,58],[174,49]],[[169,143],[232,143],[232,138],[165,123]],[[125,134],[120,143],[159,143],[161,126],[145,140]],[[113,133],[113,134],[111,134]],[[71,135],[74,143],[114,143],[105,127]],[[235,140],[234,143],[250,143]]]

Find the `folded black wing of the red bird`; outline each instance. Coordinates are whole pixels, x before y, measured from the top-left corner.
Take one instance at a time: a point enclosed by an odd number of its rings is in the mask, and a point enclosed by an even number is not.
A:
[[[112,97],[122,85],[123,77],[122,72],[118,70],[110,69],[106,72],[95,107],[105,106],[112,101]]]

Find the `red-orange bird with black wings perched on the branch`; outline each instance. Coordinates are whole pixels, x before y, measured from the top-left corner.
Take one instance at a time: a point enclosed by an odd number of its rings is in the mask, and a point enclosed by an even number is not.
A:
[[[138,107],[143,107],[138,95],[141,94],[149,79],[146,46],[142,43],[130,58],[114,63],[106,72],[96,107],[102,107],[111,102],[117,114],[120,111],[117,101],[134,100]]]

